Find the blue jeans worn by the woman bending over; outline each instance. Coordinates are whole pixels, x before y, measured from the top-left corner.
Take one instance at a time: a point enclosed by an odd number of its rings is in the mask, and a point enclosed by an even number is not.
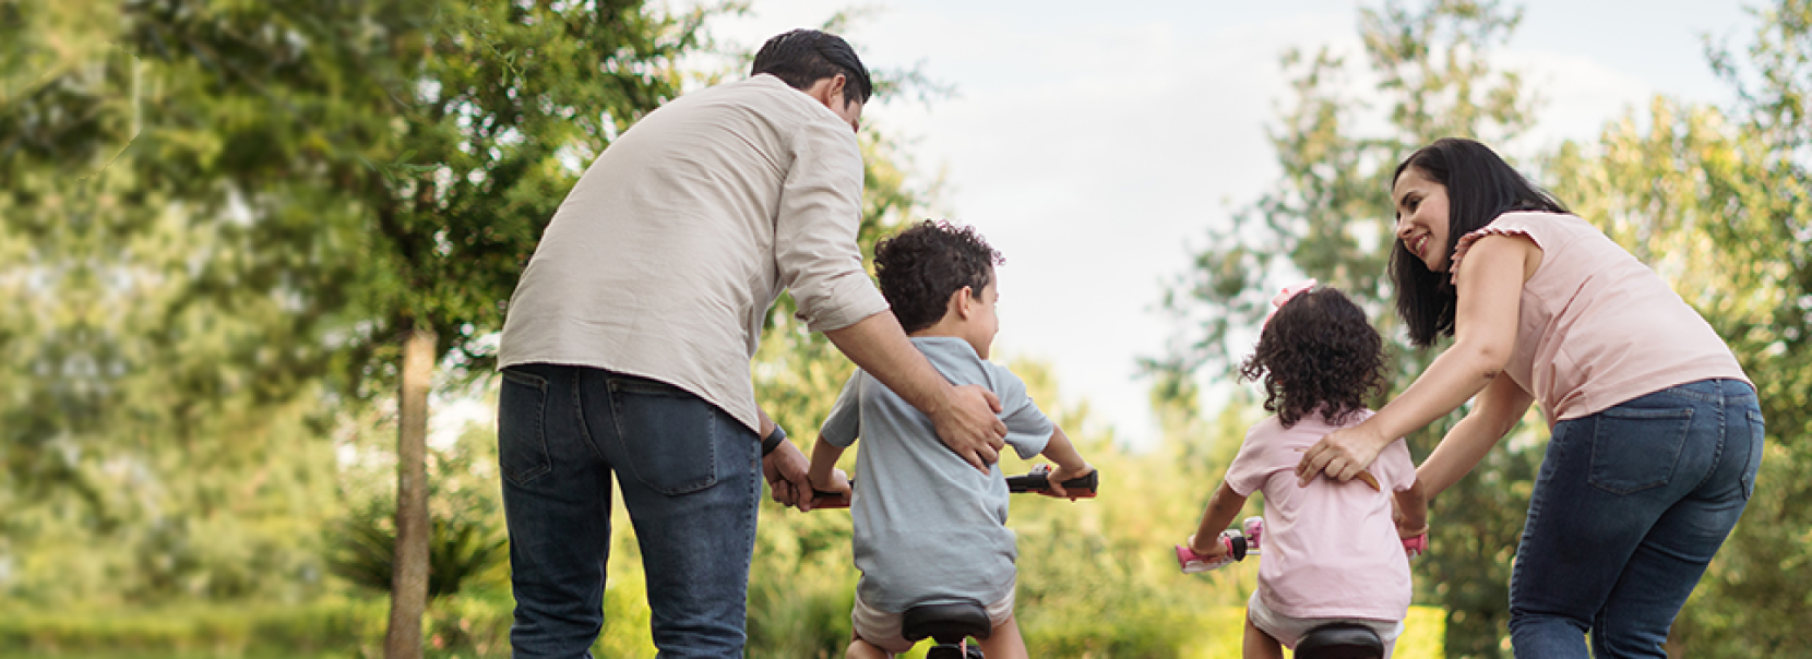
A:
[[[1665,657],[1667,628],[1736,527],[1761,409],[1700,380],[1555,424],[1509,579],[1517,657]]]

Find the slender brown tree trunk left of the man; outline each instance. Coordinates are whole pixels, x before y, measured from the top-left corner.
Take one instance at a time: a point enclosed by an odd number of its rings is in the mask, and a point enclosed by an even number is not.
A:
[[[397,398],[397,559],[390,581],[384,659],[422,657],[428,612],[428,387],[435,375],[435,331],[415,320],[402,339]]]

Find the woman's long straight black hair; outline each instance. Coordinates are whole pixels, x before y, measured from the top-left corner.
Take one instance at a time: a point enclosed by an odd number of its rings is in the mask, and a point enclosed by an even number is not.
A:
[[[1392,190],[1395,190],[1402,172],[1412,167],[1422,170],[1430,181],[1448,188],[1446,253],[1450,257],[1460,237],[1484,228],[1497,215],[1515,210],[1567,212],[1560,201],[1522,177],[1491,147],[1471,139],[1442,138],[1417,148],[1397,165],[1397,172],[1390,177]],[[1393,243],[1390,279],[1397,286],[1397,317],[1410,330],[1412,344],[1417,348],[1433,346],[1441,335],[1453,335],[1453,311],[1459,308],[1453,277],[1446,272],[1428,270],[1428,264],[1410,253],[1402,241]]]

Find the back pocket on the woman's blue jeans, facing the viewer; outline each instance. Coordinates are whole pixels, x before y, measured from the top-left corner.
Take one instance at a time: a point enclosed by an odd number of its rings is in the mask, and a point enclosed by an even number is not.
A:
[[[1593,487],[1631,494],[1667,485],[1692,427],[1692,407],[1618,406],[1595,415]]]

